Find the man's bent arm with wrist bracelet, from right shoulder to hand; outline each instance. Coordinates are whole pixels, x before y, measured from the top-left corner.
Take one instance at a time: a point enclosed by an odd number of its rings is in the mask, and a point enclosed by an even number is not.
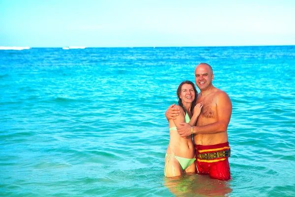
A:
[[[217,122],[193,127],[194,134],[212,134],[227,131],[227,127],[232,115],[232,101],[225,92],[218,95],[217,100]],[[186,123],[180,123],[181,127],[177,127],[177,132],[181,137],[191,134],[191,127]]]

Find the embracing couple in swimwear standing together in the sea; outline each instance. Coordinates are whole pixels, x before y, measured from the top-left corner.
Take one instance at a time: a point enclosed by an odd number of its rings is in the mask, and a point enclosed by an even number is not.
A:
[[[180,83],[178,105],[169,106],[165,113],[170,132],[164,169],[167,177],[185,172],[209,174],[219,180],[231,178],[227,127],[232,102],[212,85],[213,78],[210,65],[196,66],[195,82],[201,92],[198,94],[190,81]]]

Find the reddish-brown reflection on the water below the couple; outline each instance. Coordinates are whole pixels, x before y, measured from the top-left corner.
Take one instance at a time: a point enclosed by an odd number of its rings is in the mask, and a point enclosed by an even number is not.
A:
[[[199,174],[183,174],[164,178],[164,184],[170,192],[180,197],[224,197],[232,192],[230,182],[211,179],[208,175]]]

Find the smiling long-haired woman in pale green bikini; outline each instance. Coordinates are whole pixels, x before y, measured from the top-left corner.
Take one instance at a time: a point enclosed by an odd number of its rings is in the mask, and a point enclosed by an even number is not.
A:
[[[183,172],[196,171],[195,146],[192,135],[186,138],[180,137],[176,127],[179,123],[186,122],[191,126],[195,125],[203,103],[196,105],[198,92],[193,82],[183,81],[177,88],[178,105],[180,114],[176,120],[169,120],[170,141],[165,156],[164,174],[167,177],[180,176]]]

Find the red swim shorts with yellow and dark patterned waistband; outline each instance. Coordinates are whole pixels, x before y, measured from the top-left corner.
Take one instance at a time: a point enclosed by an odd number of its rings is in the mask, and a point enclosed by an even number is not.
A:
[[[227,181],[231,179],[229,142],[196,147],[197,174],[209,174],[211,178]]]

